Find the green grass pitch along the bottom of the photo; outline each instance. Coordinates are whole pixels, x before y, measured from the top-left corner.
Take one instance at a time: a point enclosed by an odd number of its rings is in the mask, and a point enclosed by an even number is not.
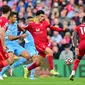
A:
[[[69,78],[38,78],[30,80],[20,77],[8,77],[0,81],[0,85],[85,85],[85,78],[75,78],[70,81]]]

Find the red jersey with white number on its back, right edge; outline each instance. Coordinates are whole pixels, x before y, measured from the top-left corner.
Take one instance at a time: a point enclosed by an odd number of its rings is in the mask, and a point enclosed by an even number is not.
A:
[[[80,41],[85,40],[85,23],[77,26],[75,30],[78,32]]]

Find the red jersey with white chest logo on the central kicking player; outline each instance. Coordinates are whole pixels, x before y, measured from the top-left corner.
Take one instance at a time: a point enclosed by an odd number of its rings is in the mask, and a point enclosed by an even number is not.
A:
[[[42,23],[31,23],[29,24],[26,29],[32,34],[35,44],[38,44],[40,42],[48,43],[47,39],[47,27],[49,26],[49,23],[47,21],[43,21]]]

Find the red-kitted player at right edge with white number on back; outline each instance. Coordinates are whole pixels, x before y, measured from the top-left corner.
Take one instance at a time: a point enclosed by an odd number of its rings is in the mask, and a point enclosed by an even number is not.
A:
[[[77,34],[79,35],[80,38],[79,45],[77,44],[78,43]],[[75,72],[79,65],[79,62],[85,54],[85,16],[83,17],[82,24],[75,28],[75,31],[73,33],[73,44],[75,46],[75,53],[77,57],[73,63],[72,73],[70,75],[70,80],[72,81],[74,79]]]

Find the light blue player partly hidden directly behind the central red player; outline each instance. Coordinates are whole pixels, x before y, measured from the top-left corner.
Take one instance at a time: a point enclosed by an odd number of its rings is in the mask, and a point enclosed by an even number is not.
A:
[[[27,17],[27,23],[30,24],[32,22],[33,22],[33,17],[32,16]],[[36,50],[33,36],[31,35],[29,31],[25,31],[25,34],[27,34],[27,37],[24,38],[24,41],[25,41],[24,48],[30,54],[30,57],[32,58],[33,62],[39,62],[38,51]],[[24,68],[24,78],[27,78],[27,75],[28,75],[27,68],[28,67]],[[35,72],[35,69],[32,69],[31,70],[32,76],[30,76],[31,79],[35,79],[35,78],[32,78],[34,77],[34,72]]]

